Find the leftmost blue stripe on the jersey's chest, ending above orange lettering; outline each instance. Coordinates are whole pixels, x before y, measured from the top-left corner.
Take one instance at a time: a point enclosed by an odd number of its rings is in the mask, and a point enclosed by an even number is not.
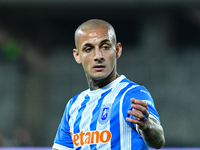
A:
[[[78,115],[76,117],[76,121],[74,123],[74,134],[75,133],[79,133],[80,132],[80,128],[79,128],[79,124],[81,122],[81,118],[82,118],[82,113],[83,110],[86,107],[87,102],[90,100],[90,97],[88,95],[85,96],[84,98],[85,100],[82,102],[80,109],[78,110]]]

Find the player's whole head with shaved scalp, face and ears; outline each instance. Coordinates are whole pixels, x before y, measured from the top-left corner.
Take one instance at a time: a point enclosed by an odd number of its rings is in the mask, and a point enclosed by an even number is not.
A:
[[[121,43],[116,44],[115,31],[109,23],[98,19],[84,22],[75,32],[75,43],[74,58],[82,64],[87,78],[116,76],[116,59],[122,47]]]

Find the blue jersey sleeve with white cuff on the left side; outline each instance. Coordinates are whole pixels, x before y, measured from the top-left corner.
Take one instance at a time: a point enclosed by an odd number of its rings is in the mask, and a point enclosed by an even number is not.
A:
[[[65,108],[63,113],[60,125],[58,127],[53,148],[59,150],[69,150],[73,149],[73,142],[70,134],[70,127],[69,127],[69,117],[68,117],[68,106],[69,102]]]

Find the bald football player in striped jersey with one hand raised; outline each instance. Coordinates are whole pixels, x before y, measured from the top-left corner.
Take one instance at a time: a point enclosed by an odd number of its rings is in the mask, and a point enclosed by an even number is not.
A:
[[[73,55],[89,89],[68,101],[53,150],[146,150],[165,143],[149,91],[117,73],[122,53],[113,27],[91,19],[75,32]]]

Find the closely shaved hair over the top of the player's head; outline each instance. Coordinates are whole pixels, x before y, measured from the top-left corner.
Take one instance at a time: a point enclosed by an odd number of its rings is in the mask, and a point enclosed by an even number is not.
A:
[[[99,29],[99,28],[107,29],[108,34],[113,36],[113,42],[116,44],[116,34],[115,34],[115,30],[112,27],[112,25],[104,20],[91,19],[91,20],[88,20],[88,21],[82,23],[76,29],[75,36],[74,36],[76,47],[77,47],[78,39],[81,35],[84,35],[84,31],[94,30],[94,29]]]

